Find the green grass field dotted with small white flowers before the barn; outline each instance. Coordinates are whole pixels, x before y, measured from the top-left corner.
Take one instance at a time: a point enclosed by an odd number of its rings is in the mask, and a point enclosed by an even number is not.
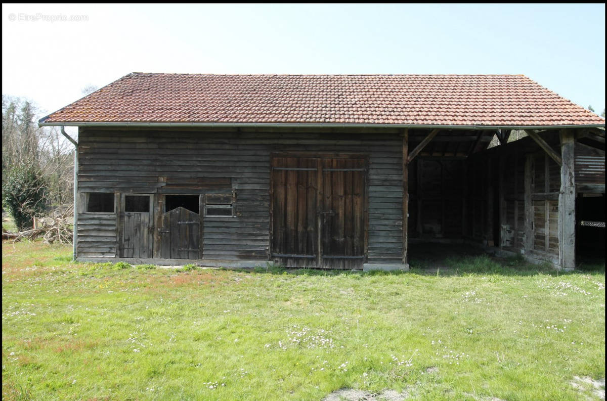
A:
[[[2,246],[3,400],[594,400],[583,379],[605,378],[604,264],[176,271],[70,255]]]

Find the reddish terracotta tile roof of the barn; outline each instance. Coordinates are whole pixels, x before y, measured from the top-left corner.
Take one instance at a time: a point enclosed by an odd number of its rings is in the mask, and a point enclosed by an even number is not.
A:
[[[132,73],[41,123],[571,126],[605,119],[523,75]]]

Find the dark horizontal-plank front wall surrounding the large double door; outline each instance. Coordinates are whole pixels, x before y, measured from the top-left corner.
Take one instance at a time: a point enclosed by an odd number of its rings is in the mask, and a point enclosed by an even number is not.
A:
[[[81,128],[79,141],[78,189],[82,193],[156,194],[158,201],[161,194],[220,194],[233,188],[236,216],[203,219],[201,258],[215,260],[269,259],[271,153],[366,155],[367,262],[402,263],[402,143],[398,132]],[[114,257],[118,251],[116,218],[115,214],[79,214],[78,255]],[[100,238],[93,241],[93,235]],[[91,241],[100,246],[91,248]]]

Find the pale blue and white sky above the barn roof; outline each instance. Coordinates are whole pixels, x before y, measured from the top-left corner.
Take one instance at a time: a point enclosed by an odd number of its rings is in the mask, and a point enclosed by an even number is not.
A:
[[[2,5],[2,93],[130,72],[524,74],[600,113],[605,4]]]

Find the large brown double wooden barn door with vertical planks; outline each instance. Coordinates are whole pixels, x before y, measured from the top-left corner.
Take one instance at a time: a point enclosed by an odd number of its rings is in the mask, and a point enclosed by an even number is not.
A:
[[[280,265],[362,269],[364,157],[273,157],[271,254]]]

